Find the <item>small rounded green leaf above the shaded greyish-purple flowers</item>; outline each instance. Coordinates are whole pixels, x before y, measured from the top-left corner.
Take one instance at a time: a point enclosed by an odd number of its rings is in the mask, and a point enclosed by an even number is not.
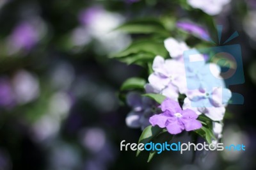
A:
[[[127,79],[121,86],[121,90],[125,89],[143,89],[146,81],[140,77],[132,77]]]

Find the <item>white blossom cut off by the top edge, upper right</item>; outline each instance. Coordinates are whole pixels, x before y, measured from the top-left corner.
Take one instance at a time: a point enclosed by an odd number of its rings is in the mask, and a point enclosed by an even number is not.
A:
[[[193,8],[198,8],[209,15],[218,15],[225,4],[230,0],[188,0],[188,4]]]

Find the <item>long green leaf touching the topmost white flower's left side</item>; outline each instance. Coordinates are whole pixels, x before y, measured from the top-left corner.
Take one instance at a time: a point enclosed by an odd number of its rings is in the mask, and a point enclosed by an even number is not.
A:
[[[140,54],[141,52],[147,52],[154,56],[167,56],[168,52],[164,48],[164,42],[156,41],[156,40],[138,40],[136,42],[131,43],[127,49],[122,52],[118,52],[110,58],[124,58],[131,54]]]

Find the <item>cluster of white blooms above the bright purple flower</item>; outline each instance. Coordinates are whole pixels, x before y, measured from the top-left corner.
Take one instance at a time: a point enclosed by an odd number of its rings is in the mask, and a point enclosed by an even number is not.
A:
[[[203,62],[185,65],[183,52],[189,50],[188,45],[174,38],[168,38],[164,44],[172,59],[156,56],[153,62],[154,73],[148,77],[149,83],[145,86],[147,91],[160,93],[175,101],[178,101],[180,94],[184,94],[186,98],[183,109],[191,109],[198,115],[205,114],[214,121],[223,120],[231,92],[225,88],[220,66],[207,63],[201,54],[196,58]]]

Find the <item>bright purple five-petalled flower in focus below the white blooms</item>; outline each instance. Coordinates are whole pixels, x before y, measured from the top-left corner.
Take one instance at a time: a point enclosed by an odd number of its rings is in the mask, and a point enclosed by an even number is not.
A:
[[[149,121],[152,126],[158,125],[167,128],[170,134],[179,134],[183,130],[191,131],[202,127],[200,121],[196,120],[198,115],[191,109],[182,111],[178,102],[166,98],[161,104],[161,114],[152,116]]]

